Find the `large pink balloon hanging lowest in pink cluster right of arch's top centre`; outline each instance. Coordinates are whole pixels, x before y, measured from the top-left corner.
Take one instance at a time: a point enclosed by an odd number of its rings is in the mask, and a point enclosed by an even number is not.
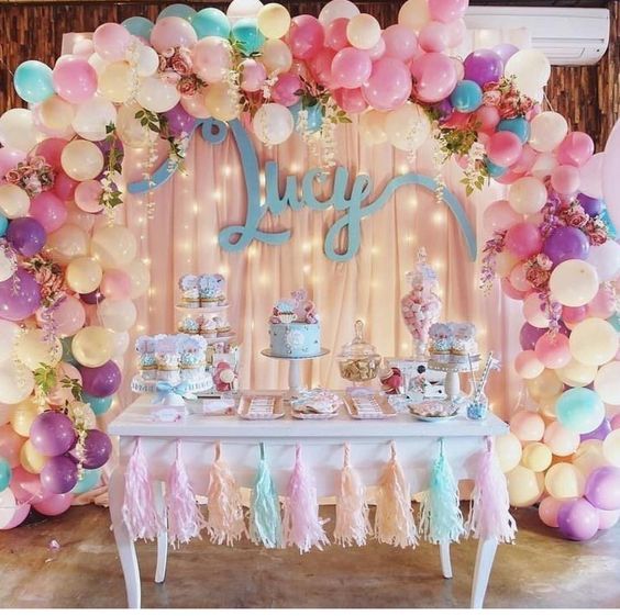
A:
[[[362,86],[366,102],[379,111],[399,108],[411,94],[411,75],[405,63],[383,57],[373,65],[368,81]]]

